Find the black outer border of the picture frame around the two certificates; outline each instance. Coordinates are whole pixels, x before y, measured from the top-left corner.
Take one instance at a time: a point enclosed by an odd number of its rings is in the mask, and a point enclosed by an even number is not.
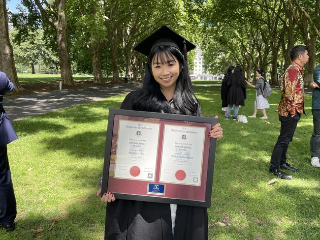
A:
[[[174,120],[177,122],[190,121],[190,122],[210,123],[211,127],[218,123],[218,119],[214,119],[214,118],[186,116],[186,115],[177,115],[177,114],[164,114],[164,113],[154,113],[154,112],[142,112],[142,111],[132,111],[132,110],[123,110],[123,109],[109,109],[106,145],[105,145],[105,154],[104,154],[104,165],[103,165],[103,177],[102,177],[102,186],[101,186],[101,197],[108,189],[113,126],[114,126],[114,118],[116,115],[142,117],[146,119],[151,118],[151,119],[160,119],[160,120]],[[145,201],[145,202],[159,202],[159,203],[166,203],[166,204],[179,204],[179,205],[209,208],[211,205],[216,139],[210,138],[209,142],[210,142],[210,148],[209,148],[209,156],[208,156],[208,169],[207,169],[207,176],[206,176],[207,178],[206,178],[204,201],[167,198],[164,196],[145,196],[145,195],[141,196],[141,195],[126,194],[126,193],[114,193],[116,199],[136,200],[136,201]]]

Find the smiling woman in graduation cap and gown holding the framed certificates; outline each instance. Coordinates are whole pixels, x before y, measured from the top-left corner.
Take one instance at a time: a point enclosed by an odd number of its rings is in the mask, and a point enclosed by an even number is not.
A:
[[[139,43],[134,49],[148,55],[143,87],[129,93],[121,108],[200,116],[185,57],[194,47],[165,26]],[[220,139],[222,135],[218,123],[209,136]],[[99,189],[97,196],[100,193]],[[106,240],[208,239],[206,208],[115,199],[111,192],[101,200],[108,202]]]

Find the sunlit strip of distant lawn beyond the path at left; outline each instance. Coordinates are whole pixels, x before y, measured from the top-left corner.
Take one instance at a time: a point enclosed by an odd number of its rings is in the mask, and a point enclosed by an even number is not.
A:
[[[60,80],[60,74],[31,74],[31,73],[18,73],[20,83],[46,83],[57,82]],[[91,75],[73,75],[74,81],[79,80],[93,80]]]

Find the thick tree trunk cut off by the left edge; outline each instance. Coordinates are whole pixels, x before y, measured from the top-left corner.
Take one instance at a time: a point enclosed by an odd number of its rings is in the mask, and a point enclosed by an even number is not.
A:
[[[17,91],[22,89],[13,59],[12,45],[9,40],[8,13],[5,0],[0,0],[0,70],[8,76]]]

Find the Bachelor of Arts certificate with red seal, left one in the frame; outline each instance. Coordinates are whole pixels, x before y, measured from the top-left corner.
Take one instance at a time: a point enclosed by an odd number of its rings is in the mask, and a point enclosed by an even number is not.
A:
[[[155,180],[160,124],[119,121],[114,178]]]

